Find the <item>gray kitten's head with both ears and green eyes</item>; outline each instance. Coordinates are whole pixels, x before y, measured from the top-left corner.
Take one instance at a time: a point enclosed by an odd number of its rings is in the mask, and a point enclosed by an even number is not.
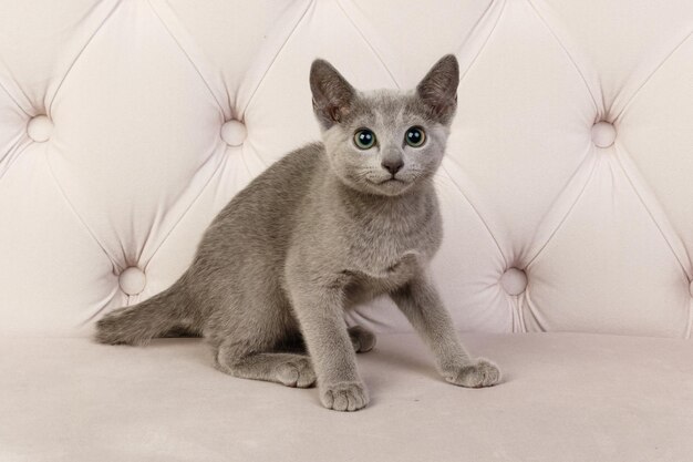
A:
[[[410,92],[360,92],[329,62],[313,61],[313,111],[333,172],[356,191],[385,196],[426,183],[443,160],[458,82],[452,54]]]

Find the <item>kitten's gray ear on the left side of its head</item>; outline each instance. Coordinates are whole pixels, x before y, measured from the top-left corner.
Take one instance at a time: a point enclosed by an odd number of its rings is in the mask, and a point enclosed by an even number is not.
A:
[[[356,91],[325,60],[316,60],[310,66],[310,90],[313,111],[323,129],[340,123],[351,109]]]

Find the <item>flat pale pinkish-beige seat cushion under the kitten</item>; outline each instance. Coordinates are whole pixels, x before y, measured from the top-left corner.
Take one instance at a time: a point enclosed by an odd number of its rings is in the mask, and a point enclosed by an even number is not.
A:
[[[199,339],[0,339],[2,461],[683,461],[693,349],[676,339],[464,335],[501,384],[447,384],[413,335],[359,355],[371,404],[213,369]],[[567,455],[569,454],[569,455]]]

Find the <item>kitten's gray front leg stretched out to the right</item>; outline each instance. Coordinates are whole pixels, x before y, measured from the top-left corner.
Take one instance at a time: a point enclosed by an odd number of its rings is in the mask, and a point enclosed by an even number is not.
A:
[[[451,383],[480,388],[500,380],[500,371],[486,359],[472,359],[465,351],[453,320],[425,270],[391,294],[414,329],[433,350],[441,374]]]

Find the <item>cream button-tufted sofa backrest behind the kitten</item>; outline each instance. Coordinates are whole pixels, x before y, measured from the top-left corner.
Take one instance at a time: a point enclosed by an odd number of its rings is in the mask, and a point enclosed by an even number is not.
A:
[[[0,7],[0,330],[84,335],[318,137],[311,60],[459,110],[434,271],[458,328],[691,333],[690,0],[49,0]],[[350,315],[408,329],[385,299]]]

